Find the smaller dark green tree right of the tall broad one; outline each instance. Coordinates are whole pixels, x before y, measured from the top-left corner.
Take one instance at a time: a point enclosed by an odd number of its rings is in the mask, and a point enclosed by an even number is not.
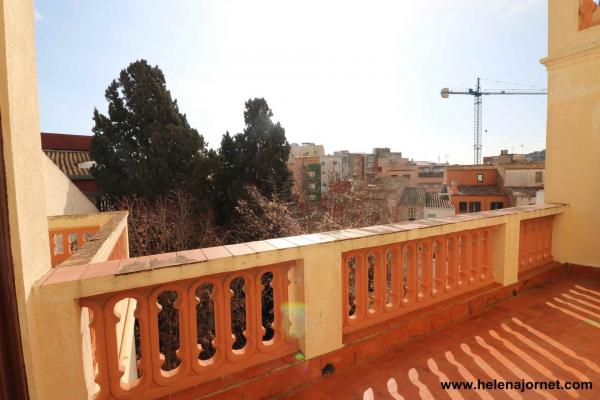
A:
[[[223,135],[215,175],[215,211],[221,224],[230,221],[238,202],[247,196],[247,187],[255,187],[267,200],[274,195],[281,201],[292,199],[293,178],[287,166],[290,145],[285,129],[272,117],[265,99],[248,100],[244,132]]]

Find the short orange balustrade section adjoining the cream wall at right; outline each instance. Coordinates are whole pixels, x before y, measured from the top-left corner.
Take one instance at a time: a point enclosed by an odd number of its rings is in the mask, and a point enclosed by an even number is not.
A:
[[[521,221],[519,273],[552,261],[552,222],[554,216]]]

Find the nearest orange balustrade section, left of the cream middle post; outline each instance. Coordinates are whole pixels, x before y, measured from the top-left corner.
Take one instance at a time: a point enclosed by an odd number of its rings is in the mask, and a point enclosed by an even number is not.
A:
[[[80,299],[90,313],[96,399],[151,399],[298,351],[288,332],[294,263]],[[117,303],[133,300],[136,367],[120,364]],[[124,339],[123,339],[124,340]],[[135,368],[134,368],[135,369]]]

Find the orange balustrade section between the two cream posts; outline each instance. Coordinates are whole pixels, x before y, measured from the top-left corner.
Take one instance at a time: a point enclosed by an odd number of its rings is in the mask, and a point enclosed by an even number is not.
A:
[[[344,333],[494,282],[493,227],[343,254]]]

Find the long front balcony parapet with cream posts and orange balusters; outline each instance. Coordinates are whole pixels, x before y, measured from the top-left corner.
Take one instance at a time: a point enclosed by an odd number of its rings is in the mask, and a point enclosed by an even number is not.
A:
[[[55,269],[36,288],[41,326],[52,332],[46,361],[56,366],[48,369],[45,383],[61,382],[61,387],[45,386],[45,398],[84,398],[88,390],[97,398],[159,398],[210,385],[215,377],[228,376],[234,384],[242,370],[273,360],[296,360],[302,368],[390,318],[517,282],[520,265],[534,268],[551,260],[551,222],[565,209],[518,207]],[[525,240],[523,223],[529,224]],[[391,269],[384,262],[387,249],[396,254]],[[408,254],[400,257],[404,249]],[[353,255],[362,261],[352,283],[348,260]],[[369,255],[378,257],[372,265]],[[436,267],[442,259],[448,260],[446,268]],[[236,349],[229,321],[239,304],[231,289],[241,279],[246,342]],[[208,287],[209,297],[198,291]],[[265,290],[272,290],[274,299],[266,308]],[[119,315],[115,304],[124,299],[134,302]],[[214,313],[212,344],[197,341],[198,330],[208,329],[197,323],[199,316],[206,319],[207,307]],[[265,326],[261,317],[269,307],[274,316]],[[88,313],[91,336],[82,319]],[[177,316],[179,338],[179,350],[167,354],[158,328],[165,313]],[[353,315],[361,316],[358,322]],[[138,354],[129,355],[137,365],[125,365],[129,369],[122,377],[115,328],[127,316],[137,320],[140,334],[134,346]],[[274,333],[265,335],[271,329]],[[211,345],[216,353],[208,350]],[[165,359],[174,357],[178,366],[166,370]]]

